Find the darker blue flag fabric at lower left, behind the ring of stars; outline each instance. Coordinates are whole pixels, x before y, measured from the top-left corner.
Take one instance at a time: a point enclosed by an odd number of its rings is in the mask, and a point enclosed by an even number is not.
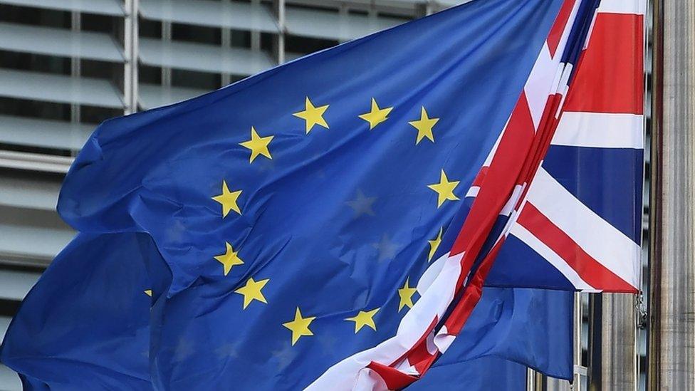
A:
[[[1,359],[25,390],[152,390],[145,234],[78,234],[24,299]]]

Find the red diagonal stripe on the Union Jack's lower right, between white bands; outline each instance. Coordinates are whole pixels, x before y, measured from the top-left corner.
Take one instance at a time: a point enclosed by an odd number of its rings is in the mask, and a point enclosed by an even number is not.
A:
[[[577,242],[530,202],[523,207],[517,223],[555,251],[555,254],[564,259],[590,286],[600,287],[604,291],[637,293],[634,286],[587,254]]]

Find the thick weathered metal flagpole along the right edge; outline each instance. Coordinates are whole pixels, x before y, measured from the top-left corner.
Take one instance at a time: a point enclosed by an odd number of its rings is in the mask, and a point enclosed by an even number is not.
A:
[[[695,3],[654,0],[649,390],[695,390]]]

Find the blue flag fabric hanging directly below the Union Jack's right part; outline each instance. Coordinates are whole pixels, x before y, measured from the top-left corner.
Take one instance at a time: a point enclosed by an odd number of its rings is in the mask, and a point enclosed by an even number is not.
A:
[[[573,295],[563,291],[484,288],[463,334],[454,340],[438,365],[493,356],[545,375],[572,380]]]

